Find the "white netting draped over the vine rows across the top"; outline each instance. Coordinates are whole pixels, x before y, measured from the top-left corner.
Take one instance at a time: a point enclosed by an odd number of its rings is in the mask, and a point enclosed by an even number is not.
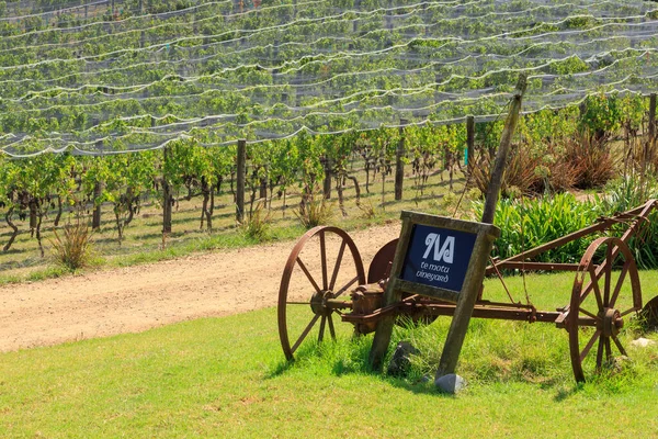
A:
[[[110,154],[484,121],[521,72],[525,112],[648,93],[657,30],[658,4],[637,0],[8,2],[0,148]]]

